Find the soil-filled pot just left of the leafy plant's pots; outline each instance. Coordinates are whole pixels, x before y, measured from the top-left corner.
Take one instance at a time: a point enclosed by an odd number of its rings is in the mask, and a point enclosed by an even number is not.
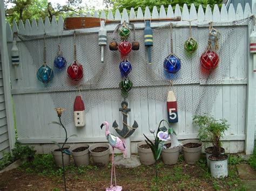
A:
[[[187,148],[184,145],[187,143],[198,143],[201,144],[201,146],[196,148]],[[188,139],[181,142],[182,151],[184,154],[184,160],[187,164],[193,165],[196,164],[197,161],[199,161],[201,156],[201,150],[203,147],[203,143],[200,142],[200,140],[197,139]]]

